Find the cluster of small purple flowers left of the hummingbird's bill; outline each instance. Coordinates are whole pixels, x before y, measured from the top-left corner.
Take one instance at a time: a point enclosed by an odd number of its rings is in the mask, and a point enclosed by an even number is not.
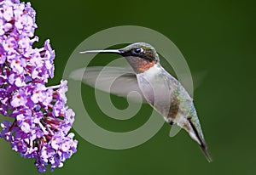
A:
[[[32,48],[38,41],[35,11],[30,3],[0,0],[0,137],[22,157],[34,158],[38,172],[62,167],[76,152],[78,141],[68,133],[74,112],[66,106],[67,81],[45,87],[54,76],[55,51]]]

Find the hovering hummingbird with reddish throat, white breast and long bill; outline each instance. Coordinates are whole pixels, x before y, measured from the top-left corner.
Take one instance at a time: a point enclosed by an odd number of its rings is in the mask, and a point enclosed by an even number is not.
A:
[[[160,57],[150,44],[136,42],[125,48],[80,52],[80,54],[99,53],[119,54],[125,57],[131,65],[132,71],[108,67],[102,76],[103,78],[98,81],[101,84],[98,88],[122,97],[126,97],[132,90],[141,93],[144,101],[158,111],[167,123],[177,124],[189,133],[189,136],[200,145],[207,161],[212,161],[193,99],[183,88],[183,85],[160,65]],[[99,67],[86,68],[83,77],[84,82],[96,87],[96,76],[101,70],[102,68]],[[116,75],[121,76],[116,78],[115,88],[111,88],[111,90],[104,88],[110,80],[110,76]]]

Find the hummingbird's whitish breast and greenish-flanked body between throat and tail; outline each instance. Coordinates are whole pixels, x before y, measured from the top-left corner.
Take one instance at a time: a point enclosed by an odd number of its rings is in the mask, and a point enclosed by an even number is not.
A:
[[[192,99],[181,84],[159,64],[137,74],[137,80],[145,99],[167,121],[178,122],[181,116],[190,116],[186,114],[186,109],[190,109]]]

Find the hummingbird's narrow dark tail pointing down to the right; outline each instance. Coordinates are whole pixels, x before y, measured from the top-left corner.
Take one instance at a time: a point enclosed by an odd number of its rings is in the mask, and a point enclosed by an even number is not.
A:
[[[192,127],[194,133],[195,133],[195,136],[196,138],[198,139],[199,141],[199,144],[200,144],[200,147],[201,147],[201,150],[203,151],[204,155],[206,156],[207,158],[207,161],[209,162],[212,162],[212,156],[209,154],[209,151],[207,149],[207,143],[205,141],[205,139],[203,138],[202,134],[200,134],[197,129],[195,128],[195,125],[192,123],[191,120],[189,120],[189,124],[190,126]]]

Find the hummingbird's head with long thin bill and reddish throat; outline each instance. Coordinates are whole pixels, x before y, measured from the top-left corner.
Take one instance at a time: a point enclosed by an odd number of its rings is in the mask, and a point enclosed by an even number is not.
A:
[[[119,54],[125,57],[136,73],[143,73],[155,64],[159,63],[159,56],[155,49],[148,43],[137,42],[132,43],[125,48],[111,50],[91,50],[80,52],[84,53],[110,53]]]

